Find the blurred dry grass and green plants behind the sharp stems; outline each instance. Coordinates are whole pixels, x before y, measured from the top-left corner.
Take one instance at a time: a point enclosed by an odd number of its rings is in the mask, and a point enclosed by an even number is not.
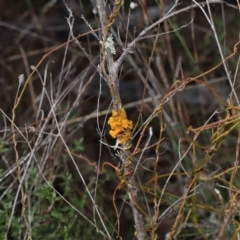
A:
[[[73,11],[73,32],[76,36],[90,31],[85,21],[93,29],[100,27],[91,1],[68,0],[66,3]],[[125,46],[146,26],[169,11],[174,1],[139,0],[137,3],[138,7],[131,10],[128,21],[130,1],[125,1],[113,27]],[[179,2],[173,11],[191,4],[190,0]],[[211,13],[222,53],[226,57],[233,53],[233,46],[239,40],[237,2],[212,4]],[[96,71],[100,46],[91,33],[79,41],[92,62],[72,42],[48,55],[38,67],[15,111],[17,151],[14,150],[11,118],[18,91],[23,87],[19,84],[19,76],[24,74],[26,79],[32,71],[31,66],[36,66],[45,54],[70,39],[68,16],[69,12],[60,0],[0,1],[0,239],[105,239],[101,234],[105,232],[102,221],[112,239],[116,237],[113,194],[119,179],[111,167],[106,166],[98,176],[95,165],[89,164],[95,162],[101,166],[104,162],[111,162],[118,165],[115,152],[99,141],[115,144],[108,134],[109,127],[105,126],[111,96],[107,84],[100,80]],[[156,40],[153,36],[160,32],[169,33]],[[115,43],[117,58],[122,49],[117,41]],[[190,9],[157,26],[147,34],[147,38],[137,42],[122,66],[120,94],[129,119],[136,123],[140,115],[140,122],[144,122],[155,108],[153,99],[159,100],[166,95],[176,79],[194,77],[221,61],[216,36],[201,9]],[[238,54],[227,61],[227,66],[232,78],[236,76],[234,88],[238,95]],[[192,143],[193,136],[187,135],[187,129],[203,126],[216,109],[219,109],[218,114],[211,117],[210,122],[225,117],[226,108],[218,98],[227,102],[231,93],[224,67],[218,67],[201,80],[209,85],[190,83],[164,106],[166,128],[159,150],[159,192],[179,159],[179,139],[182,153]],[[143,104],[142,99],[146,100]],[[232,103],[232,106],[237,106],[237,103]],[[235,109],[236,112],[238,110]],[[154,133],[150,145],[159,138],[160,124],[159,118],[151,122]],[[195,148],[184,158],[182,164],[187,172],[191,172],[194,160],[204,156],[204,147],[209,145],[213,131],[202,131]],[[137,134],[133,139],[134,144],[139,136]],[[233,188],[237,192],[240,185],[238,170],[231,178],[231,169],[238,162],[238,137],[239,127],[236,124],[204,168],[202,175],[207,177],[199,181],[197,198],[192,200],[197,210],[194,212],[192,202],[187,204],[186,201],[185,214],[191,217],[182,223],[184,228],[179,230],[176,239],[216,239],[226,219],[229,219],[226,223],[228,227],[222,239],[237,236],[240,226],[239,197],[237,195],[233,200],[230,190]],[[140,147],[143,148],[146,142],[147,136],[144,136]],[[143,167],[139,169],[138,176],[139,184],[143,186],[142,207],[151,213],[154,205],[147,188],[153,186],[147,183],[152,179],[155,149],[144,151],[141,158]],[[18,173],[22,179],[24,198]],[[162,212],[181,199],[186,189],[189,178],[180,168],[178,173],[170,178],[166,186]],[[220,173],[219,178],[210,179]],[[102,218],[93,209],[86,186],[94,196]],[[130,240],[134,238],[134,222],[125,194],[124,189],[117,191],[115,202],[121,212],[121,236]],[[233,202],[234,211],[225,211]],[[191,215],[192,211],[194,214]],[[169,211],[161,219],[157,230],[159,239],[164,239],[170,231],[176,213],[177,209]],[[28,238],[27,232],[31,233],[31,238]]]

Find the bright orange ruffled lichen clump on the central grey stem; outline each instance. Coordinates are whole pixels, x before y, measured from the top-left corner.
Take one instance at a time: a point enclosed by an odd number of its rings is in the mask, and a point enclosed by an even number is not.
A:
[[[112,110],[112,116],[109,118],[108,124],[111,127],[109,134],[113,138],[117,138],[119,143],[127,143],[131,137],[133,123],[127,119],[125,109],[120,108],[118,111]]]

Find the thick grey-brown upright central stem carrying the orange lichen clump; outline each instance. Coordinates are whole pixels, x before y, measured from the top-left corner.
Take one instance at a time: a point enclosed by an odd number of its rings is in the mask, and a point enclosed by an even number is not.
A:
[[[112,116],[110,120],[115,124],[114,121],[117,119],[120,121],[122,118],[126,122],[128,121],[125,119],[125,110],[122,109],[122,113],[118,112],[118,110],[121,111],[121,99],[119,95],[119,79],[118,79],[118,71],[120,68],[120,64],[116,64],[113,59],[113,53],[109,49],[104,48],[104,45],[106,44],[106,40],[108,39],[108,30],[111,27],[111,25],[114,22],[114,18],[117,15],[120,6],[123,4],[123,0],[115,1],[114,9],[112,14],[110,15],[109,18],[107,18],[107,13],[106,13],[106,8],[104,6],[104,0],[96,0],[96,5],[98,9],[98,14],[99,14],[99,19],[102,27],[102,36],[103,36],[103,42],[102,42],[102,50],[101,54],[103,56],[103,60],[101,62],[101,71],[105,75],[108,81],[108,85],[112,94],[112,99],[113,99],[113,107],[116,110],[115,116]],[[107,62],[107,70],[108,74],[106,74],[105,70],[105,65],[104,62]],[[130,124],[131,121],[129,121]],[[112,130],[113,133],[115,133]],[[120,138],[119,138],[120,139]],[[118,141],[118,140],[117,140]],[[123,174],[128,174],[129,172],[132,171],[132,162],[129,160],[131,156],[131,152],[127,149],[129,149],[129,142],[131,146],[131,140],[129,141],[123,141],[123,151],[121,151],[121,154],[119,154],[119,157],[122,161],[122,171]],[[144,221],[144,218],[140,211],[137,209],[137,199],[138,199],[138,189],[134,187],[135,179],[134,176],[129,177],[127,179],[127,184],[126,188],[128,190],[128,196],[131,204],[131,208],[133,211],[133,217],[134,217],[134,223],[135,223],[135,229],[136,229],[136,237],[138,240],[147,240],[148,239],[148,234],[146,231],[146,224]]]

